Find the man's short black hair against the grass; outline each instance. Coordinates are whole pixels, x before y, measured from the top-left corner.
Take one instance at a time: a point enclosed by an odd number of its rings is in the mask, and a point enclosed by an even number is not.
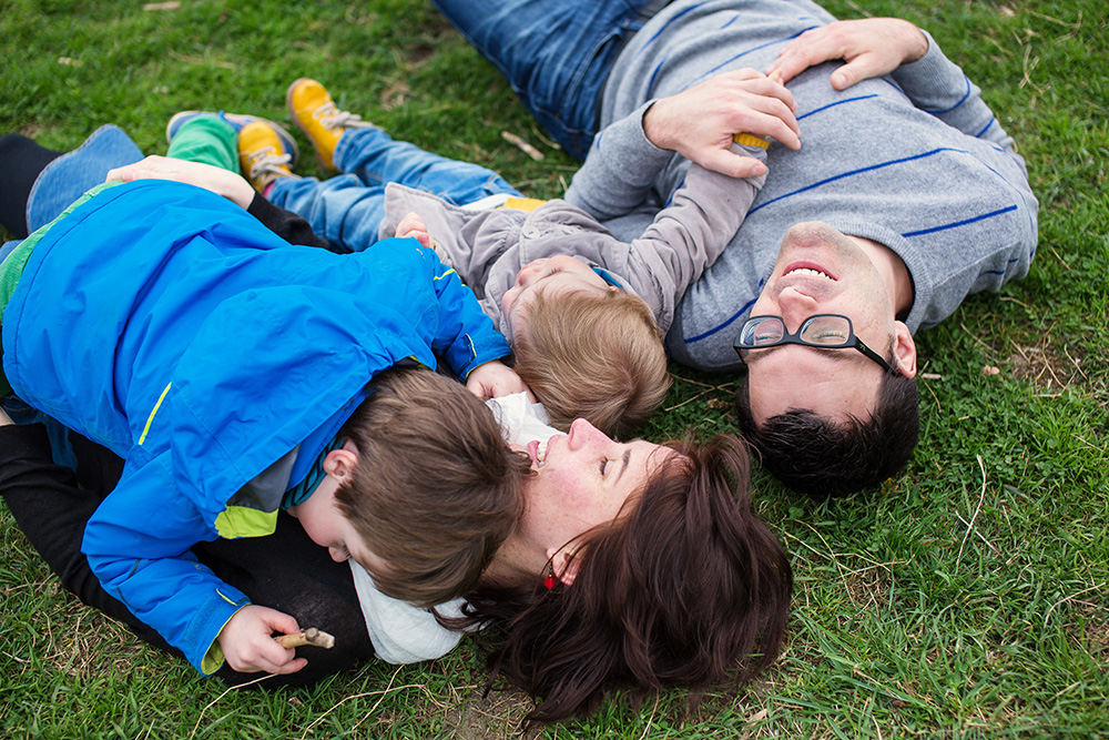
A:
[[[791,408],[759,426],[744,377],[735,412],[743,436],[774,477],[803,494],[842,496],[877,486],[905,467],[919,433],[919,401],[916,381],[895,369],[883,376],[867,419],[851,416],[836,423],[807,408]]]

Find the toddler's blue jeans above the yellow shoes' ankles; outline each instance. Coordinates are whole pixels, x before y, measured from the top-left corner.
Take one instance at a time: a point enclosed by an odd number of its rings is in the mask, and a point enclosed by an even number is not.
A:
[[[335,166],[347,174],[327,180],[278,178],[268,199],[304,217],[317,235],[362,252],[377,241],[390,182],[435,193],[456,205],[519,191],[492,170],[448,160],[380,129],[350,129],[335,146]]]

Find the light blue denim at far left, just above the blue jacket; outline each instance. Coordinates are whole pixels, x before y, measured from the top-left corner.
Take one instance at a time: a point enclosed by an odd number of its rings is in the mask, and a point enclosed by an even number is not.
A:
[[[84,143],[62,154],[39,173],[27,200],[29,232],[57,219],[84,191],[104,182],[108,171],[138,162],[142,151],[123,130],[103,125]]]

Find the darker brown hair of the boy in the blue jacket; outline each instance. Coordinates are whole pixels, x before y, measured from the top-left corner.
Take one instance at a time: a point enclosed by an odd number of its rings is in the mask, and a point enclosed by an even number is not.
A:
[[[343,515],[389,568],[383,594],[434,606],[474,588],[523,513],[526,455],[460,383],[390,369],[339,432],[358,448],[338,488]]]

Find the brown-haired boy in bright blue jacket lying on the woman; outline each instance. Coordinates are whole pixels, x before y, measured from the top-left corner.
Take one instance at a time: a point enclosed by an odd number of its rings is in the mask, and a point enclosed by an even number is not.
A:
[[[405,442],[388,452],[381,434],[374,459],[362,454],[369,443],[358,440],[376,438],[374,403],[364,404],[372,381],[398,363],[434,368],[439,355],[475,389],[512,378],[497,362],[509,352],[503,337],[415,240],[356,255],[293,247],[206,191],[108,184],[7,253],[0,303],[16,394],[126,460],[82,551],[104,588],[202,672],[224,658],[235,670],[283,673],[303,660],[269,639],[296,631],[295,620],[251,606],[200,566],[189,553],[197,541],[268,534],[286,508],[381,590],[431,605],[472,586],[515,526],[527,466],[461,386],[433,382],[423,398],[394,404],[401,428],[447,427],[441,444],[454,437],[454,449]],[[414,477],[386,483],[378,466],[389,462]],[[398,490],[424,468],[452,473],[438,488]],[[383,496],[428,490],[434,500],[410,500],[381,524]],[[462,516],[484,538],[459,541],[446,517],[458,509],[442,503],[478,493],[481,505]],[[428,517],[417,516],[421,506]],[[431,516],[440,509],[451,510]],[[435,557],[388,557],[391,535],[411,535],[390,531],[406,521]]]

